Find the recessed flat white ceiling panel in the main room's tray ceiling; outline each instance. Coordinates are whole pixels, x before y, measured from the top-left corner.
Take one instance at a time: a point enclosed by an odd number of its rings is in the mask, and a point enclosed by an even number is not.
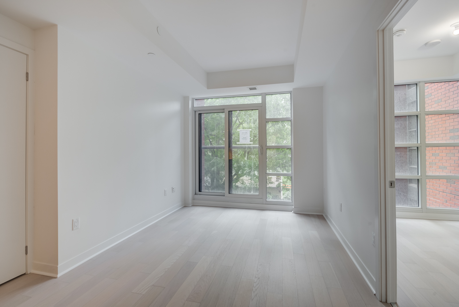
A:
[[[302,0],[140,0],[206,72],[293,64]]]

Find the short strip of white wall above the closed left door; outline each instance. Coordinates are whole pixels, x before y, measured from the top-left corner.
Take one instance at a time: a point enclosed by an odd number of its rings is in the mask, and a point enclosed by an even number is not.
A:
[[[34,30],[0,14],[0,36],[34,50]]]

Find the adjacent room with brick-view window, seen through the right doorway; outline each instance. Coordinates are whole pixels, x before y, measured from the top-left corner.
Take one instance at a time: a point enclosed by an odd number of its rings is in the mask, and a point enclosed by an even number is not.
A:
[[[418,0],[394,28],[397,303],[459,304],[459,5]]]

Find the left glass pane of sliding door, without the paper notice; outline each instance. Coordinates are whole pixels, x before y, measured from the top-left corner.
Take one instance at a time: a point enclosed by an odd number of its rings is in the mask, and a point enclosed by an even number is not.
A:
[[[225,113],[199,114],[199,191],[225,192]]]

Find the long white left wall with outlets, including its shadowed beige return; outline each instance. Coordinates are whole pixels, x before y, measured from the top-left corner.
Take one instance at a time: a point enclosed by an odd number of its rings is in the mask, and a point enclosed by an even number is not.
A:
[[[36,108],[42,154],[35,164],[42,168],[35,190],[43,210],[36,211],[35,230],[56,243],[35,242],[41,252],[34,271],[60,276],[183,206],[183,96],[61,26],[37,33],[39,46],[53,43],[37,66],[56,65],[37,84],[44,94]],[[73,218],[80,229],[72,230]]]

